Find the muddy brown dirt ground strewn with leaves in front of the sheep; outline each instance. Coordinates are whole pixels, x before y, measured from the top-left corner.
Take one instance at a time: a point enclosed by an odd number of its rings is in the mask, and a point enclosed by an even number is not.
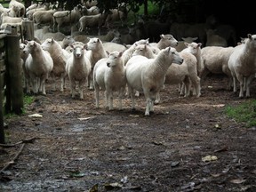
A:
[[[96,109],[93,91],[71,99],[68,88],[52,92],[48,83],[26,114],[5,120],[9,143],[34,140],[1,174],[0,191],[256,191],[256,128],[223,113],[251,99],[227,84],[208,76],[200,98],[166,85],[154,114],[144,116],[143,96],[134,111],[128,98],[123,110],[108,111],[103,93]],[[0,147],[1,169],[20,146]]]

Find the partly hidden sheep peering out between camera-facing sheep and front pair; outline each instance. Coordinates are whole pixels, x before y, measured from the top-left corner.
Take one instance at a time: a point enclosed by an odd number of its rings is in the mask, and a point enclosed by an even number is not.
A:
[[[86,52],[85,54],[86,54],[86,57],[89,58],[89,60],[91,61],[92,72],[93,72],[93,68],[94,68],[96,62],[102,58],[107,58],[108,53],[105,51],[103,44],[99,38],[88,37],[88,40],[89,40],[89,42],[86,44],[86,50],[88,50],[88,52]],[[93,90],[92,72],[89,75],[90,81],[88,81],[90,90]]]

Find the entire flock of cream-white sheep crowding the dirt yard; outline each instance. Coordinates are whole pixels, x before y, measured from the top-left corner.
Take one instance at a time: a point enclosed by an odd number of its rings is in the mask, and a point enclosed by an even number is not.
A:
[[[4,17],[21,19],[20,22],[22,22],[25,12],[36,25],[44,24],[42,15],[46,16],[46,12],[55,18],[44,20],[45,23],[49,23],[50,27],[38,29],[37,36],[35,31],[35,40],[20,43],[21,63],[27,92],[30,92],[32,88],[34,93],[46,94],[45,82],[48,78],[52,78],[54,82],[52,89],[56,90],[56,77],[60,77],[60,91],[63,92],[65,80],[68,77],[72,98],[76,97],[76,89],[78,89],[79,98],[83,100],[84,89],[87,87],[86,89],[95,92],[96,108],[100,107],[100,91],[105,92],[106,105],[109,109],[113,109],[114,92],[118,92],[119,109],[122,108],[122,99],[126,94],[131,96],[132,108],[135,108],[134,96],[143,93],[146,99],[145,116],[149,116],[149,113],[154,110],[154,104],[160,101],[160,93],[164,89],[164,84],[178,84],[180,94],[185,97],[190,95],[200,97],[201,84],[209,73],[213,73],[227,75],[228,89],[233,87],[234,92],[237,90],[238,82],[240,98],[250,97],[250,84],[256,73],[256,35],[248,34],[240,44],[228,46],[228,38],[234,35],[233,28],[224,26],[228,36],[220,36],[216,33],[218,30],[220,32],[223,26],[219,29],[208,29],[206,32],[204,28],[206,36],[206,41],[204,41],[202,31],[196,34],[192,25],[175,24],[169,28],[168,32],[161,31],[160,27],[157,28],[158,32],[163,33],[158,35],[157,42],[152,42],[149,35],[146,38],[140,37],[138,26],[141,27],[141,23],[146,23],[141,21],[135,28],[137,38],[133,38],[127,44],[120,43],[118,40],[120,41],[122,37],[129,39],[132,36],[131,33],[120,34],[116,29],[109,30],[108,34],[103,36],[86,36],[83,31],[86,28],[92,28],[90,26],[92,22],[89,24],[88,20],[100,17],[100,21],[93,24],[93,27],[96,26],[98,29],[103,24],[102,14],[96,5],[92,4],[95,2],[97,3],[97,1],[92,1],[90,6],[85,4],[88,2],[84,3],[87,12],[84,16],[78,6],[71,12],[56,10],[53,12],[49,7],[45,10],[45,4],[42,8],[36,8],[36,5],[32,4],[27,10],[25,7],[17,9],[21,4],[17,0],[12,0],[9,9],[3,11],[2,25],[10,24],[10,20],[6,21]],[[10,12],[15,12],[15,10],[19,11],[11,15]],[[29,15],[31,11],[34,13]],[[89,12],[93,13],[89,14]],[[113,17],[115,12],[113,10],[110,16]],[[117,11],[117,15],[119,20],[123,21],[125,18],[120,11]],[[110,27],[110,21],[114,19],[106,15],[104,17],[105,25]],[[66,36],[60,32],[65,22],[80,23],[76,36]],[[49,31],[54,23],[55,25],[57,23],[58,32]],[[211,21],[205,22],[204,27],[209,23]],[[199,29],[197,26],[196,30]],[[183,30],[187,30],[187,35]],[[189,34],[188,30],[193,31],[194,34],[191,31]],[[134,36],[135,34],[132,37]],[[199,43],[195,42],[195,37],[199,38]],[[182,38],[184,41],[181,41]]]

